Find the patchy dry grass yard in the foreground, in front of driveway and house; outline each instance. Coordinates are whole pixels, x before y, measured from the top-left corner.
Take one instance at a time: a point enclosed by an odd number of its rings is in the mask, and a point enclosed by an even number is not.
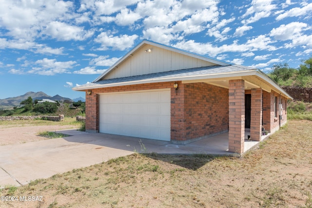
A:
[[[0,207],[311,208],[312,121],[292,120],[243,158],[133,154],[36,180]]]

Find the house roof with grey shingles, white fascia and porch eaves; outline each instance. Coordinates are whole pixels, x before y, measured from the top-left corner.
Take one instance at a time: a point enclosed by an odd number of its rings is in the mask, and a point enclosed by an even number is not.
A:
[[[173,70],[165,69],[164,71],[156,71],[156,72],[154,71],[152,73],[148,73],[146,72],[147,70],[144,63],[137,62],[137,67],[143,66],[142,67],[143,72],[140,72],[141,74],[133,74],[133,75],[128,74],[128,76],[125,76],[127,75],[127,73],[121,74],[121,76],[111,76],[112,74],[110,75],[110,73],[114,74],[114,72],[118,71],[118,66],[121,66],[119,69],[127,71],[128,65],[122,64],[127,63],[127,59],[129,60],[132,57],[136,56],[136,53],[139,54],[137,55],[138,57],[140,56],[143,57],[144,52],[142,54],[142,50],[145,50],[145,52],[147,52],[146,45],[149,46],[152,45],[158,48],[162,48],[164,50],[168,50],[173,53],[182,54],[184,56],[183,58],[191,57],[191,59],[187,60],[192,61],[194,60],[192,58],[195,58],[197,61],[198,60],[200,61],[202,60],[204,62],[206,61],[205,62],[206,65],[201,67],[186,67],[182,69],[175,68]],[[151,56],[154,57],[155,55]],[[167,57],[163,56],[162,58],[165,59]],[[183,58],[182,60],[184,60]],[[140,59],[140,61],[142,60],[144,61],[144,59]],[[183,67],[185,67],[186,65],[183,65]],[[262,88],[263,90],[269,93],[271,93],[271,90],[274,90],[275,92],[280,93],[281,95],[287,97],[288,99],[292,99],[292,97],[288,95],[277,83],[275,83],[269,76],[267,76],[265,73],[263,73],[261,70],[257,68],[237,65],[226,61],[218,60],[212,57],[198,55],[192,52],[184,51],[181,49],[177,49],[171,46],[163,45],[149,40],[143,40],[141,43],[139,43],[136,47],[130,50],[124,57],[120,58],[106,72],[98,76],[98,78],[95,79],[92,83],[80,85],[72,89],[75,91],[86,91],[89,89],[96,88],[117,87],[117,86],[168,82],[168,81],[182,81],[182,83],[205,82],[219,87],[228,88],[229,83],[228,80],[231,79],[244,79],[245,89]]]

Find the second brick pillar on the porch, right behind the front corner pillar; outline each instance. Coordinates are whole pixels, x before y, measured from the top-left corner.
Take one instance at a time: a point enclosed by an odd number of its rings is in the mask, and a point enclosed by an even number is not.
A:
[[[262,128],[262,89],[252,89],[250,139],[261,141]]]

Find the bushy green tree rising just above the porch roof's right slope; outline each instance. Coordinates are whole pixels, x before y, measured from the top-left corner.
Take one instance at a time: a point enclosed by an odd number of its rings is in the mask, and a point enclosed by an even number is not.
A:
[[[274,64],[272,70],[270,74],[275,82],[278,82],[280,79],[286,81],[291,78],[295,72],[295,69],[290,68],[288,63]]]

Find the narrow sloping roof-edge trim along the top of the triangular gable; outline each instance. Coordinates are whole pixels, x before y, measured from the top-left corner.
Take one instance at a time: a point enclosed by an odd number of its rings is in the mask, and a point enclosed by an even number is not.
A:
[[[147,40],[144,39],[142,42],[140,42],[139,44],[137,44],[137,46],[135,46],[133,49],[131,49],[125,56],[121,57],[115,64],[113,64],[109,69],[107,69],[103,74],[101,74],[100,76],[98,76],[98,78],[96,78],[93,82],[97,82],[101,79],[104,79],[105,76],[107,76],[109,73],[111,73],[113,70],[116,70],[118,68],[118,66],[120,66],[120,64],[122,62],[124,62],[125,60],[127,60],[129,57],[132,57],[139,49],[141,49],[144,45],[152,45],[161,49],[165,49],[171,52],[176,52],[178,54],[182,54],[185,55],[187,57],[193,57],[193,58],[197,58],[203,61],[207,61],[207,62],[211,62],[215,65],[220,65],[220,66],[229,66],[229,65],[233,65],[232,63],[226,62],[226,61],[222,61],[222,60],[218,60],[216,58],[213,57],[207,57],[207,56],[203,56],[203,55],[199,55],[196,53],[192,53],[189,51],[185,51],[182,49],[178,49],[172,46],[168,46],[168,45],[164,45],[161,43],[157,43],[151,40]]]

